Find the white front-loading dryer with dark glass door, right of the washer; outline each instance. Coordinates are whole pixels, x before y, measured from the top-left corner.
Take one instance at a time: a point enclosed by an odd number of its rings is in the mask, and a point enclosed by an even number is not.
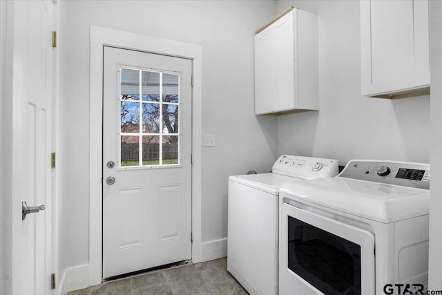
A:
[[[430,165],[352,160],[280,190],[281,295],[421,294]],[[418,293],[416,293],[418,292]]]

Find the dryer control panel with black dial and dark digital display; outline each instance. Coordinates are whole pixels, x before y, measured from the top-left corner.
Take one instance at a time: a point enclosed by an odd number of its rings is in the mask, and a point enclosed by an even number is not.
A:
[[[430,189],[430,164],[352,160],[338,177]]]

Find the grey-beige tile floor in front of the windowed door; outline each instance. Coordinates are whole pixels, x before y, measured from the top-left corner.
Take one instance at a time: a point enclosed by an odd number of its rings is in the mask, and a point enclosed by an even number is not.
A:
[[[227,272],[227,258],[113,280],[68,295],[247,295]]]

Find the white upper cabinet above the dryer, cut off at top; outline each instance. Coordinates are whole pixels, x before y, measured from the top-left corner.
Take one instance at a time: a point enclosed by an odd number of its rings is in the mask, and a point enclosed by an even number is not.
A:
[[[369,97],[430,91],[428,0],[361,0],[361,87]]]

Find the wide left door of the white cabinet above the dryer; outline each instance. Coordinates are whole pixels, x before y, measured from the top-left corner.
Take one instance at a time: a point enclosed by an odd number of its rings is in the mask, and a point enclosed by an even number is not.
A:
[[[413,1],[361,1],[362,94],[412,88]]]

